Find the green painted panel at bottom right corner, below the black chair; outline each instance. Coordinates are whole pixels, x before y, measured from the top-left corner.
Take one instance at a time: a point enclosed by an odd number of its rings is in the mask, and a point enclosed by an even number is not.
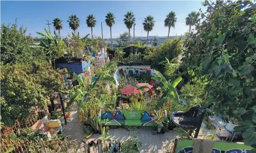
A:
[[[194,140],[179,139],[175,153],[191,153]],[[250,153],[252,147],[238,143],[215,142],[211,153]]]

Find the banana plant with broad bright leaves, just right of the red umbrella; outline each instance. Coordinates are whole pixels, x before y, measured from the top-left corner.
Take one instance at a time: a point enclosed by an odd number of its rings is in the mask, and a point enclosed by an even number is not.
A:
[[[179,77],[174,80],[174,82],[171,84],[169,81],[165,79],[165,77],[157,71],[157,75],[152,77],[153,80],[156,81],[161,81],[163,83],[163,88],[162,88],[162,96],[160,98],[160,101],[158,101],[156,107],[154,109],[160,109],[163,104],[165,104],[169,99],[174,99],[176,101],[179,100],[179,95],[177,90],[175,89],[179,82],[181,82],[182,78]]]

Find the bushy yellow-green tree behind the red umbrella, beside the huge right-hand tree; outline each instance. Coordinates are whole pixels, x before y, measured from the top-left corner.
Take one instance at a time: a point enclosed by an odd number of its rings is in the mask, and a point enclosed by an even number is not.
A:
[[[157,49],[146,52],[144,59],[150,63],[151,67],[163,72],[163,66],[158,63],[164,61],[166,58],[170,60],[178,57],[184,49],[182,44],[181,38],[167,39]]]

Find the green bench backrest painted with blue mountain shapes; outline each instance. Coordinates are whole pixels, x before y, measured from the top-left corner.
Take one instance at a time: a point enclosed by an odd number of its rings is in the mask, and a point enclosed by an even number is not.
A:
[[[153,122],[154,111],[100,111],[103,126],[157,126]],[[165,112],[166,114],[166,112]],[[167,114],[165,120],[167,121]]]

